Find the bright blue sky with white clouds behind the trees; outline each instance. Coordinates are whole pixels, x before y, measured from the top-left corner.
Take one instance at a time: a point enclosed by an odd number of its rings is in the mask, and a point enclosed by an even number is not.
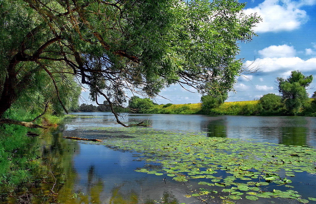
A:
[[[234,86],[236,92],[229,92],[227,101],[250,101],[268,93],[279,95],[276,78],[288,78],[294,70],[313,75],[313,83],[307,90],[311,96],[316,90],[316,0],[240,2],[247,3],[245,14],[257,13],[263,19],[254,27],[258,36],[251,42],[240,43],[240,54],[236,56],[244,59],[245,67],[258,68],[258,72],[239,76]],[[172,85],[163,89],[162,97],[156,97],[154,102],[200,102],[201,95],[192,92]],[[87,90],[83,90],[81,96],[80,103],[91,103]]]

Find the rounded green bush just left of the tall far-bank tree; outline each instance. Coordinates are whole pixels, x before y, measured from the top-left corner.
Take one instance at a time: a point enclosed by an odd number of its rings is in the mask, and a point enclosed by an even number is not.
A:
[[[283,107],[281,96],[272,93],[265,94],[259,101],[263,108],[263,114],[280,114],[280,108]]]

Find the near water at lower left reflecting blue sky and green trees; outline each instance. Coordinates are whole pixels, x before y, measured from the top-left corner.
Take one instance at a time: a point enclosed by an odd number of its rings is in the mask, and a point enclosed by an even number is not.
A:
[[[80,143],[62,137],[63,126],[53,134],[34,139],[37,168],[30,172],[34,183],[0,203],[126,204],[190,201],[184,197],[188,187],[182,183],[135,172],[148,164],[136,161],[135,153],[121,152],[103,145]],[[191,200],[194,201],[194,200]],[[190,201],[190,202],[191,202]],[[193,202],[198,203],[198,202]]]

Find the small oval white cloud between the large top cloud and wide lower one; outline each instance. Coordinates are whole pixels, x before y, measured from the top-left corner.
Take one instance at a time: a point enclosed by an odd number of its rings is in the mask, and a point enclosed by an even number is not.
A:
[[[294,57],[295,49],[289,45],[271,45],[258,51],[261,57]]]

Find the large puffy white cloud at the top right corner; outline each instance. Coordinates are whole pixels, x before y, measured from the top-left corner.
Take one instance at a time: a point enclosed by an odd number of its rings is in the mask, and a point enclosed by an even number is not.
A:
[[[255,32],[292,31],[299,28],[308,20],[305,10],[301,6],[313,5],[315,0],[289,1],[265,0],[254,8],[245,9],[246,14],[257,13],[262,22],[254,27]]]

